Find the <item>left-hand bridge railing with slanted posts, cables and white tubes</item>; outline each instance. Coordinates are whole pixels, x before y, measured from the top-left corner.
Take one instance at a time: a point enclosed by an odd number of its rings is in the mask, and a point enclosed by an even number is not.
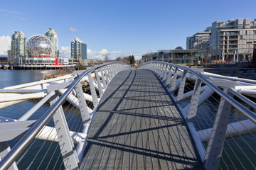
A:
[[[22,94],[11,102],[27,100],[31,96],[24,98],[26,93],[40,92],[45,96],[18,120],[0,117],[0,169],[18,169],[18,166],[21,169],[55,169],[57,164],[60,169],[79,169],[90,122],[100,98],[114,75],[125,69],[130,69],[129,65],[110,62],[85,72],[75,71],[60,83],[47,81],[45,86],[38,81],[0,90],[0,93]],[[38,86],[42,89],[35,89]],[[47,101],[48,111],[38,120],[28,120],[40,108],[46,107]],[[18,142],[10,149],[8,141],[15,139]],[[29,154],[30,157],[34,155],[32,160],[20,165]]]

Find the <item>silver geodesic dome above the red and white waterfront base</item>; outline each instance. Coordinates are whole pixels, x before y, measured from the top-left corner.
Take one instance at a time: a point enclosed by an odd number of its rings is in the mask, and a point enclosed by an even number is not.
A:
[[[43,35],[33,35],[27,42],[29,57],[50,57],[52,44],[50,40]]]

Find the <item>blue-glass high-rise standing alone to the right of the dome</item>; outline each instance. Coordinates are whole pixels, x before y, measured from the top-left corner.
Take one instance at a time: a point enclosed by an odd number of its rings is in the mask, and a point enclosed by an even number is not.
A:
[[[71,60],[87,59],[87,45],[80,39],[75,38],[71,41]]]

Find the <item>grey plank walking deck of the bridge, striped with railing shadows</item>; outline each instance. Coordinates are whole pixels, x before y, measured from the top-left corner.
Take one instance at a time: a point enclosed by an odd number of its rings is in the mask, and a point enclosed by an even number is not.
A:
[[[80,169],[203,169],[185,121],[149,70],[119,72],[102,96]]]

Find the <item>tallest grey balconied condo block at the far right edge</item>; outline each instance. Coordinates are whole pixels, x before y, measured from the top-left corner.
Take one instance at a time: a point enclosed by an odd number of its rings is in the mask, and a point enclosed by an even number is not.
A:
[[[215,60],[245,60],[252,57],[253,45],[256,45],[256,20],[236,19],[212,23],[210,52]]]

